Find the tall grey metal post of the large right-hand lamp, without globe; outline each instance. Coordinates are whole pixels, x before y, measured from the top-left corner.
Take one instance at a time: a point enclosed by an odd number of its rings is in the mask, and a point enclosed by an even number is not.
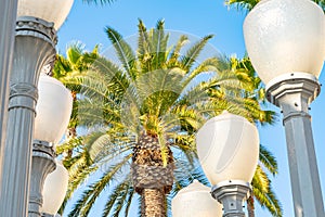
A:
[[[269,100],[283,112],[296,217],[325,217],[309,104],[320,93],[306,73],[285,75],[268,85]]]

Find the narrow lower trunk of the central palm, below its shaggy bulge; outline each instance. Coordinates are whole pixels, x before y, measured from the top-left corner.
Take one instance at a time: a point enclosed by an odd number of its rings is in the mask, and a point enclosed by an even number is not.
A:
[[[166,195],[164,189],[144,189],[141,195],[142,217],[165,217]]]

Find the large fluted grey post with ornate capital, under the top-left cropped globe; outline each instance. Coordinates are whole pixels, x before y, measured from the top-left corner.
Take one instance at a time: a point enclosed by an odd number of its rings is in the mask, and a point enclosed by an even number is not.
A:
[[[55,55],[53,23],[18,17],[0,194],[0,216],[25,217],[29,196],[31,138],[39,74]]]

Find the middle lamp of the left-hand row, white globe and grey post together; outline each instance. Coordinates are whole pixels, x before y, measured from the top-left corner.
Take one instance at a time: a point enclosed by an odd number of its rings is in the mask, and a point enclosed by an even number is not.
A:
[[[41,74],[38,84],[28,217],[40,217],[44,179],[55,169],[56,144],[63,137],[72,114],[73,97],[62,82]],[[57,190],[58,191],[58,190]],[[52,195],[54,196],[54,195]]]

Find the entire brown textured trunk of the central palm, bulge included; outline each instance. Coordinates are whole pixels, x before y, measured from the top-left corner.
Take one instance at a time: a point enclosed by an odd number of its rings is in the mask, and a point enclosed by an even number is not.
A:
[[[158,138],[152,135],[141,135],[133,149],[132,179],[133,187],[141,195],[142,217],[166,216],[166,194],[173,183],[173,157],[167,146],[167,165],[161,158],[161,149]]]

